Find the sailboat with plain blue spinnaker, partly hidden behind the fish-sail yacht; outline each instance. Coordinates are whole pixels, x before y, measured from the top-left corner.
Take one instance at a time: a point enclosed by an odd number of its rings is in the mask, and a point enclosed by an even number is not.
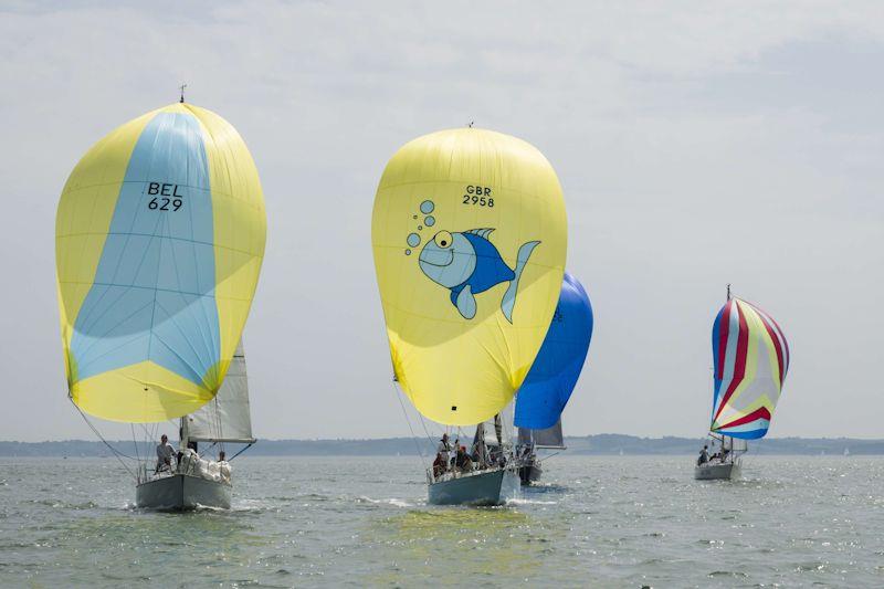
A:
[[[583,285],[565,273],[556,313],[528,376],[516,393],[516,454],[523,485],[543,473],[538,450],[565,450],[561,412],[586,364],[592,338],[592,305]]]

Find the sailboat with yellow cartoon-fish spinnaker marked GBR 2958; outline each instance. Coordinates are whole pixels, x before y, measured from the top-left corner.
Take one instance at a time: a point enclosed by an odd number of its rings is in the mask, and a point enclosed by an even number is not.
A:
[[[445,429],[430,504],[498,505],[518,492],[513,396],[552,319],[567,221],[532,145],[478,128],[414,139],[387,165],[371,243],[393,380]],[[472,448],[453,448],[475,428]],[[469,456],[469,457],[467,457]]]

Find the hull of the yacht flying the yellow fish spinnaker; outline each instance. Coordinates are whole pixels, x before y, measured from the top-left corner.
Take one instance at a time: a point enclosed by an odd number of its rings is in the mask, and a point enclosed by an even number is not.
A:
[[[505,469],[463,474],[456,478],[430,483],[430,505],[503,505],[518,495],[519,477]]]

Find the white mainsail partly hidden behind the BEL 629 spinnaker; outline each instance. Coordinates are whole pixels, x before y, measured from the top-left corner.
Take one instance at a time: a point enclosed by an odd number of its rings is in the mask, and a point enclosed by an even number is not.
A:
[[[199,411],[185,417],[185,437],[194,442],[251,444],[252,414],[249,407],[249,379],[242,341],[236,346],[228,375],[218,395]]]

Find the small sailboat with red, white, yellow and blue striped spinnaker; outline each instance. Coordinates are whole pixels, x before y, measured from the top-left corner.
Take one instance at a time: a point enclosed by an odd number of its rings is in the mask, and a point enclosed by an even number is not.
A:
[[[774,318],[757,306],[732,297],[712,328],[714,380],[709,435],[718,451],[697,461],[694,478],[736,478],[748,440],[767,434],[786,374],[789,344]]]

